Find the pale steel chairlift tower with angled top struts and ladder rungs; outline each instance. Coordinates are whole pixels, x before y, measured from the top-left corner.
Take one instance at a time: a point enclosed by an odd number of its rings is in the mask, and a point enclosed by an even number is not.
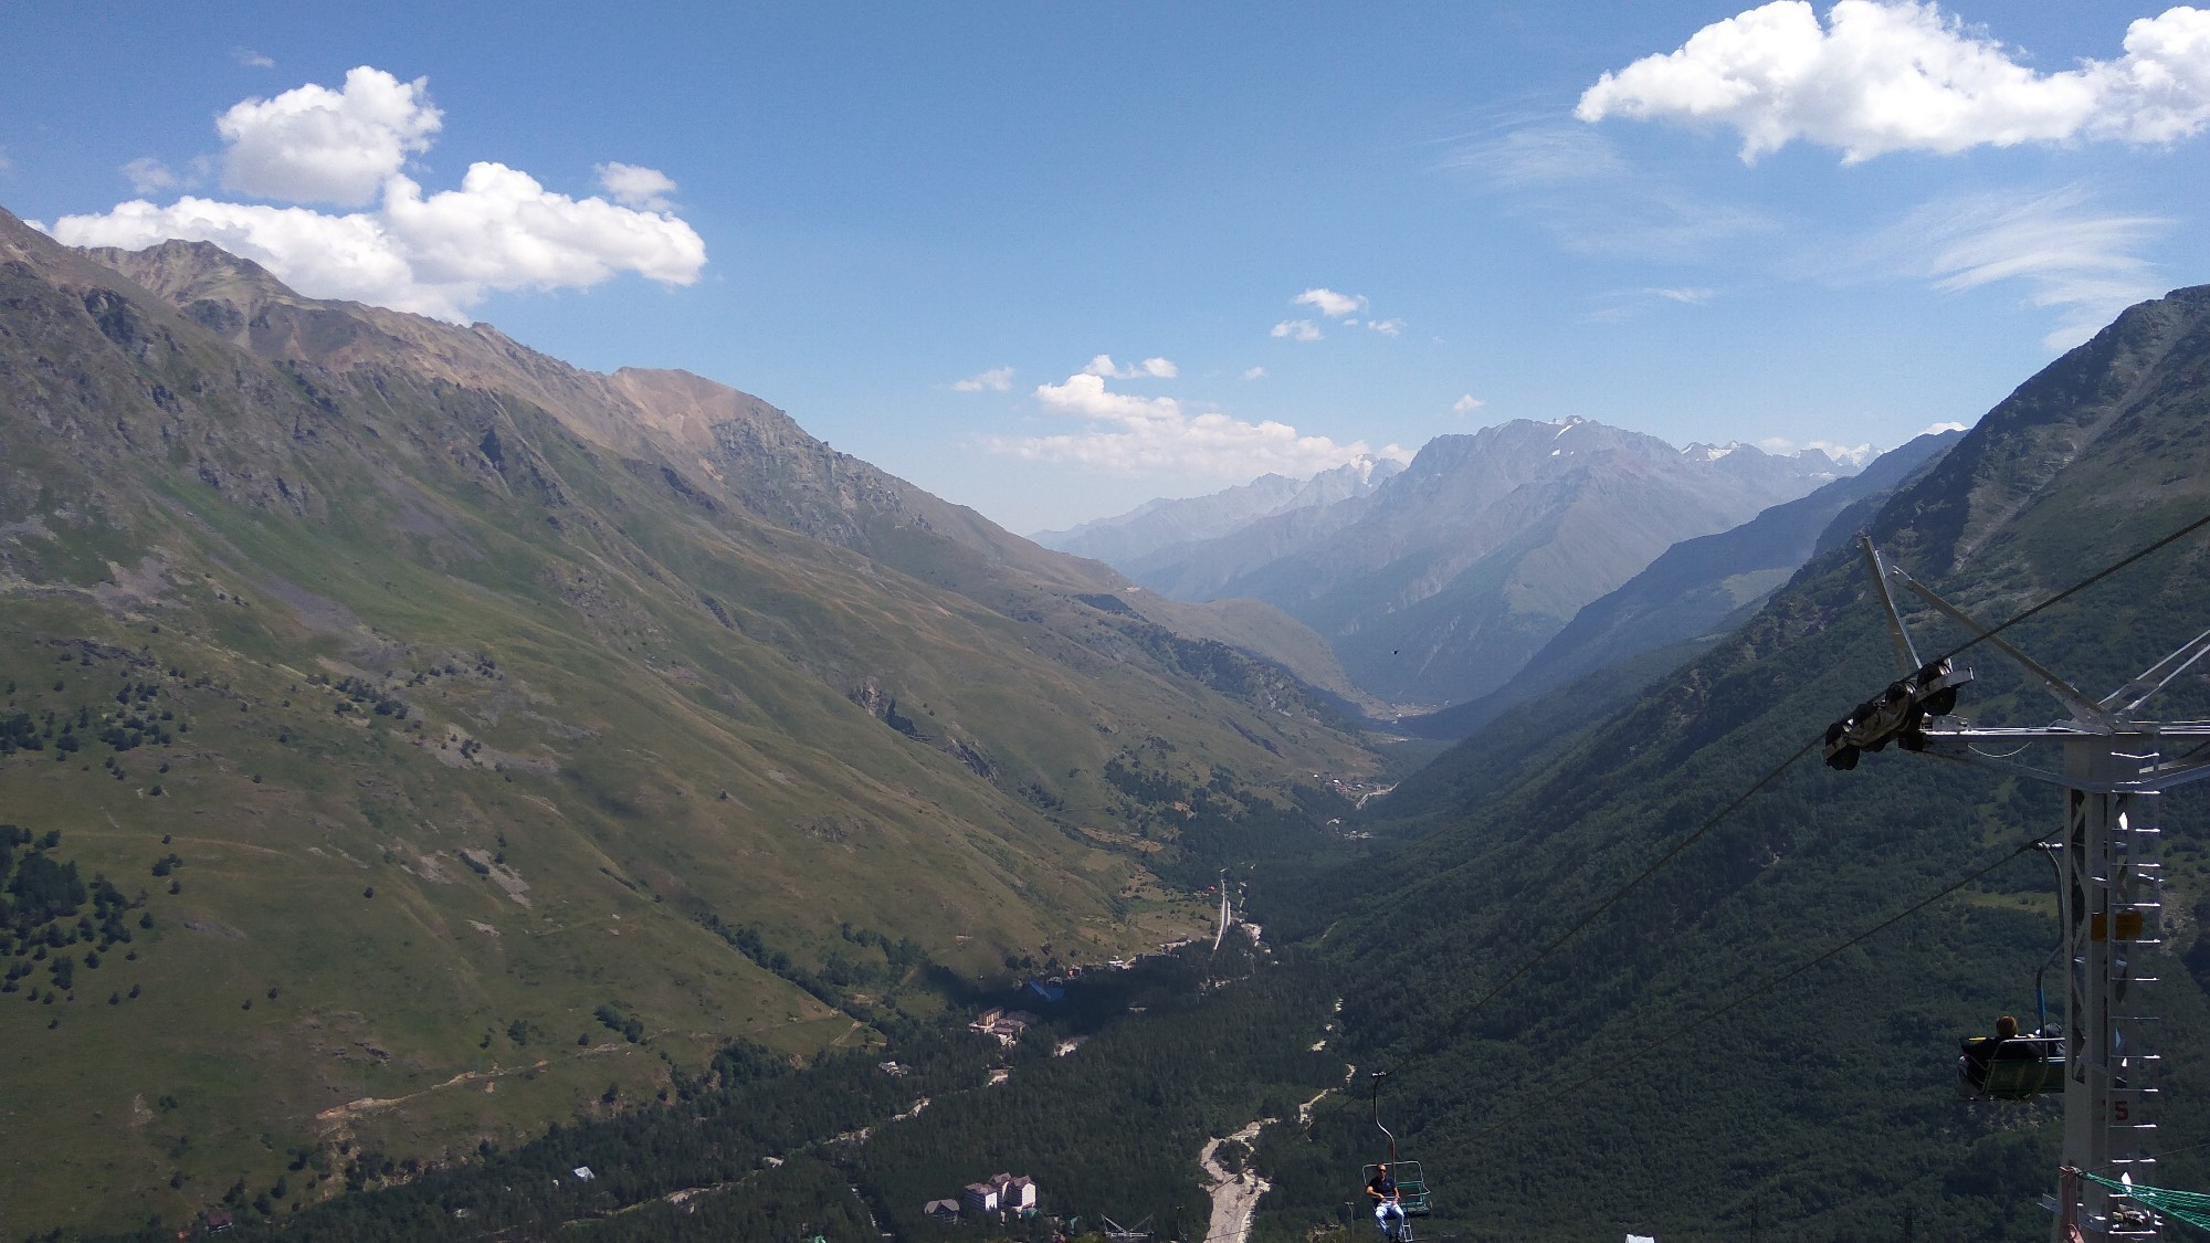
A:
[[[1909,752],[1991,767],[2064,792],[2055,843],[2064,925],[2064,1166],[2111,1179],[2153,1183],[2157,1150],[2157,1015],[2144,975],[2161,947],[2157,794],[2210,776],[2210,721],[2141,721],[2141,708],[2203,655],[2210,630],[2157,661],[2115,692],[2093,699],[2007,644],[1962,608],[1881,557],[1863,540],[1865,564],[1887,613],[1903,679],[1828,730],[1825,761],[1856,767],[1856,754],[1890,741]],[[2066,712],[2053,725],[1978,728],[1951,717],[1956,688],[1971,670],[1920,664],[1896,610],[1909,593],[1982,641],[2046,690]],[[1980,750],[1998,743],[2004,754]],[[2046,756],[2020,761],[2040,750]],[[2177,752],[2177,756],[2175,756]],[[2088,1179],[2062,1179],[2055,1239],[2077,1225],[2091,1243],[2161,1239],[2155,1216]]]

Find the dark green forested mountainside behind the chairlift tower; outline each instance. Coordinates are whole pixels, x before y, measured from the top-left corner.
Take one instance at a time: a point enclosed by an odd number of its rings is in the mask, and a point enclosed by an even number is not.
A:
[[[2210,288],[2126,312],[1996,407],[1898,491],[1872,537],[1982,617],[2009,617],[2210,511]],[[2210,544],[2195,537],[2011,637],[2111,688],[2203,628]],[[1914,613],[1927,641],[1956,628]],[[1991,652],[1965,710],[2055,712]],[[1403,1062],[1392,1110],[1428,1161],[1439,1230],[1587,1239],[2029,1239],[2046,1232],[2051,1106],[1951,1099],[1956,1037],[2033,1013],[2058,938],[2049,867],[2016,858],[1859,949],[1735,1009],[1759,984],[2060,823],[2058,794],[1885,752],[1850,774],[1788,767],[1496,1002],[1465,1013],[1797,745],[1892,677],[1852,549],[1814,557],[1741,630],[1582,732],[1514,719],[1476,737],[1459,783],[1379,805],[1395,854],[1353,909],[1308,909],[1366,986],[1344,1006],[1361,1066]],[[2159,712],[2201,717],[2192,675]],[[1448,767],[1445,767],[1448,772]],[[2164,798],[2168,953],[2157,993],[2168,1185],[2210,1181],[2203,816]],[[1395,823],[1390,821],[1395,818]],[[1273,931],[1288,931],[1275,927]],[[1704,1026],[1635,1057],[1691,1022]],[[1306,1146],[1311,1143],[1311,1146]],[[1282,1168],[1372,1148],[1357,1110],[1280,1139]],[[1304,1203],[1293,1203],[1295,1199]],[[1277,1236],[1337,1188],[1288,1188]]]

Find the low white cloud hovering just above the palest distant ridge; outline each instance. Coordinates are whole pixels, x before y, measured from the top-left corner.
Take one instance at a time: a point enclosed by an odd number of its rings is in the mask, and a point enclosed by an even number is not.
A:
[[[1326,436],[1299,436],[1277,420],[1249,422],[1220,411],[1191,414],[1176,398],[1138,398],[1105,387],[1105,376],[1081,372],[1063,385],[1036,385],[1045,411],[1090,422],[1063,436],[992,438],[997,453],[1034,462],[1074,462],[1109,471],[1174,471],[1213,478],[1255,478],[1269,471],[1311,476],[1361,456],[1410,460],[1397,445],[1368,449]]]

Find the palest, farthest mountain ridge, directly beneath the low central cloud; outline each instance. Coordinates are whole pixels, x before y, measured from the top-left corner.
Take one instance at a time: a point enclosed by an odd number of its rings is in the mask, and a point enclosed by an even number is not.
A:
[[[1370,495],[1399,471],[1403,471],[1403,462],[1392,458],[1359,456],[1355,462],[1319,471],[1308,480],[1260,476],[1209,495],[1147,500],[1118,518],[1098,518],[1070,531],[1039,531],[1032,540],[1045,549],[1120,566],[1156,557],[1180,544],[1231,535],[1275,513]]]

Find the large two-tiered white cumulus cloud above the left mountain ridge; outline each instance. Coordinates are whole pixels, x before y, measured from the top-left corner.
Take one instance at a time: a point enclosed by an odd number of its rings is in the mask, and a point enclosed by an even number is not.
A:
[[[69,246],[124,250],[212,241],[307,296],[451,321],[466,321],[469,307],[499,290],[590,288],[619,272],[665,285],[698,279],[705,241],[667,212],[559,195],[495,161],[471,164],[457,190],[424,192],[400,166],[429,146],[438,124],[420,80],[354,69],[345,91],[309,84],[223,113],[223,181],[267,197],[351,201],[358,179],[373,177],[373,208],[332,215],[192,195],[157,206],[141,197],[62,217],[51,232]]]

